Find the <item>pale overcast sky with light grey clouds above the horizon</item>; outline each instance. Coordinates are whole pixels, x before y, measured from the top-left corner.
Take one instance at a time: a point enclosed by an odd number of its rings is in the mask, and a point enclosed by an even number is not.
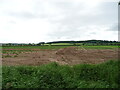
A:
[[[0,0],[0,43],[118,40],[119,0],[104,1]]]

